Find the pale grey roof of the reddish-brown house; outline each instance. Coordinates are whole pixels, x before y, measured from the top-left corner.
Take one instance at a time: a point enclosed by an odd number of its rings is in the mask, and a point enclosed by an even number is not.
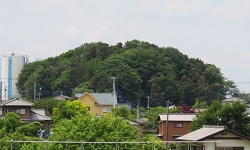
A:
[[[193,121],[196,114],[169,114],[168,121]],[[160,114],[159,121],[166,121],[167,114]]]

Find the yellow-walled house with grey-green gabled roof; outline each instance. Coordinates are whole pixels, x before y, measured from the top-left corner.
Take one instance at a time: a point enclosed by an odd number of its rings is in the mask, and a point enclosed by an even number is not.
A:
[[[89,112],[93,115],[102,116],[111,111],[113,105],[117,105],[117,99],[112,93],[88,93],[85,92],[79,98],[82,103],[89,107]]]

